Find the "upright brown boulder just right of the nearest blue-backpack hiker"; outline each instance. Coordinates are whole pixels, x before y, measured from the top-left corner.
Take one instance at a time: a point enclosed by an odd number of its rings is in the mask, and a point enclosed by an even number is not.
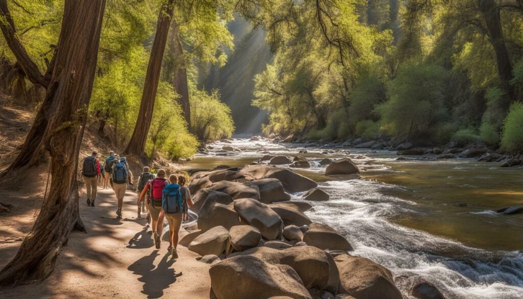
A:
[[[205,201],[198,213],[198,228],[203,232],[215,226],[223,226],[225,229],[240,225],[240,217],[233,209],[224,204],[209,200]]]

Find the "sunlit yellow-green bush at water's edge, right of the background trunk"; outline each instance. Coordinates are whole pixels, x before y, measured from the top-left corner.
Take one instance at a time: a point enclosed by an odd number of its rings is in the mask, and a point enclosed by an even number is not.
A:
[[[191,93],[191,126],[204,142],[230,138],[234,132],[231,108],[220,102],[220,93],[194,90]]]

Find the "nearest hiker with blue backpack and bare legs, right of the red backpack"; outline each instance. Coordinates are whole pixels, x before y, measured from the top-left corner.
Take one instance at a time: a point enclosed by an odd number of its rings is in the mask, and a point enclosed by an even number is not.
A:
[[[185,176],[171,174],[169,175],[169,182],[163,190],[162,207],[169,223],[169,248],[167,248],[167,251],[172,253],[173,259],[177,259],[176,247],[178,246],[181,222],[188,218],[187,206],[191,207],[194,203],[191,200],[189,189],[185,186]]]

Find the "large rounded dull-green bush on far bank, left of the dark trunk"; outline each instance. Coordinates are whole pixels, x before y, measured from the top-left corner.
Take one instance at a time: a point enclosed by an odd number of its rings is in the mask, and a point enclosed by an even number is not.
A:
[[[388,101],[376,108],[385,131],[396,138],[417,138],[444,120],[447,77],[437,65],[403,65],[388,83]]]

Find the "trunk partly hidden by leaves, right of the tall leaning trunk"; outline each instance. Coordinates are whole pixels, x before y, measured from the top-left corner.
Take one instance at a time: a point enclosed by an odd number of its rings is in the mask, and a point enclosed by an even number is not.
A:
[[[184,48],[181,46],[180,35],[178,32],[178,25],[173,22],[173,38],[170,40],[170,50],[174,57],[179,57],[184,54]],[[191,112],[189,105],[189,86],[187,84],[187,69],[185,65],[175,65],[172,74],[172,82],[176,93],[180,95],[178,103],[184,111],[184,117],[187,121],[187,126],[191,130]]]

